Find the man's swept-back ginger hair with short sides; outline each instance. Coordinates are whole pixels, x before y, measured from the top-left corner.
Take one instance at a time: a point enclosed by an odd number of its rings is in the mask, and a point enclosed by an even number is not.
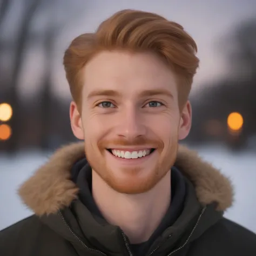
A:
[[[84,33],[71,42],[64,54],[64,68],[73,100],[81,105],[86,63],[104,50],[152,52],[175,73],[179,105],[191,90],[199,65],[197,44],[183,26],[151,12],[122,10],[103,21],[95,33]]]

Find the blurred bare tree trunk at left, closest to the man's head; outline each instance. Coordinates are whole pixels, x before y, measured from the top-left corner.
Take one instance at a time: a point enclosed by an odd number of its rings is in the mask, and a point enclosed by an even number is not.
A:
[[[50,140],[52,139],[52,136],[55,136],[53,134],[52,124],[56,122],[61,122],[61,118],[59,118],[58,121],[53,119],[52,110],[53,107],[53,101],[55,104],[57,104],[57,99],[53,96],[52,93],[52,70],[53,70],[53,53],[54,53],[54,45],[55,40],[58,38],[59,33],[62,31],[62,29],[65,27],[65,24],[70,22],[70,18],[67,18],[66,15],[62,15],[62,19],[57,21],[56,19],[56,9],[60,10],[60,8],[63,11],[63,14],[68,13],[71,11],[72,17],[74,14],[78,14],[78,11],[75,11],[76,9],[79,9],[79,5],[77,6],[69,6],[72,2],[59,2],[58,0],[48,0],[48,2],[45,3],[45,15],[48,17],[48,23],[46,25],[45,33],[44,33],[44,41],[43,41],[43,47],[44,47],[44,57],[45,57],[45,65],[44,65],[44,77],[43,77],[43,83],[42,83],[42,94],[41,94],[41,123],[42,123],[42,130],[41,130],[41,148],[42,149],[49,149],[50,147]],[[81,10],[79,10],[81,11]],[[60,134],[58,134],[60,135]]]

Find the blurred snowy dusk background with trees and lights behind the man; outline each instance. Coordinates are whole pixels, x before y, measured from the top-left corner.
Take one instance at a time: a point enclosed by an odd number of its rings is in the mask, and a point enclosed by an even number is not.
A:
[[[0,0],[0,230],[31,214],[18,185],[76,140],[65,49],[127,8],[178,22],[197,42],[193,125],[183,143],[231,178],[235,201],[225,215],[256,232],[255,0]]]

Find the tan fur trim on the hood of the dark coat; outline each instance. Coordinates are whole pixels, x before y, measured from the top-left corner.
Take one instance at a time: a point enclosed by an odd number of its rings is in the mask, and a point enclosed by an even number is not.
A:
[[[19,188],[23,203],[36,215],[56,213],[68,207],[78,194],[78,187],[70,180],[70,170],[73,163],[84,156],[84,143],[73,143],[57,150],[48,163]],[[218,211],[225,211],[232,205],[230,180],[201,160],[196,152],[180,145],[175,165],[192,181],[201,204],[215,201]]]

